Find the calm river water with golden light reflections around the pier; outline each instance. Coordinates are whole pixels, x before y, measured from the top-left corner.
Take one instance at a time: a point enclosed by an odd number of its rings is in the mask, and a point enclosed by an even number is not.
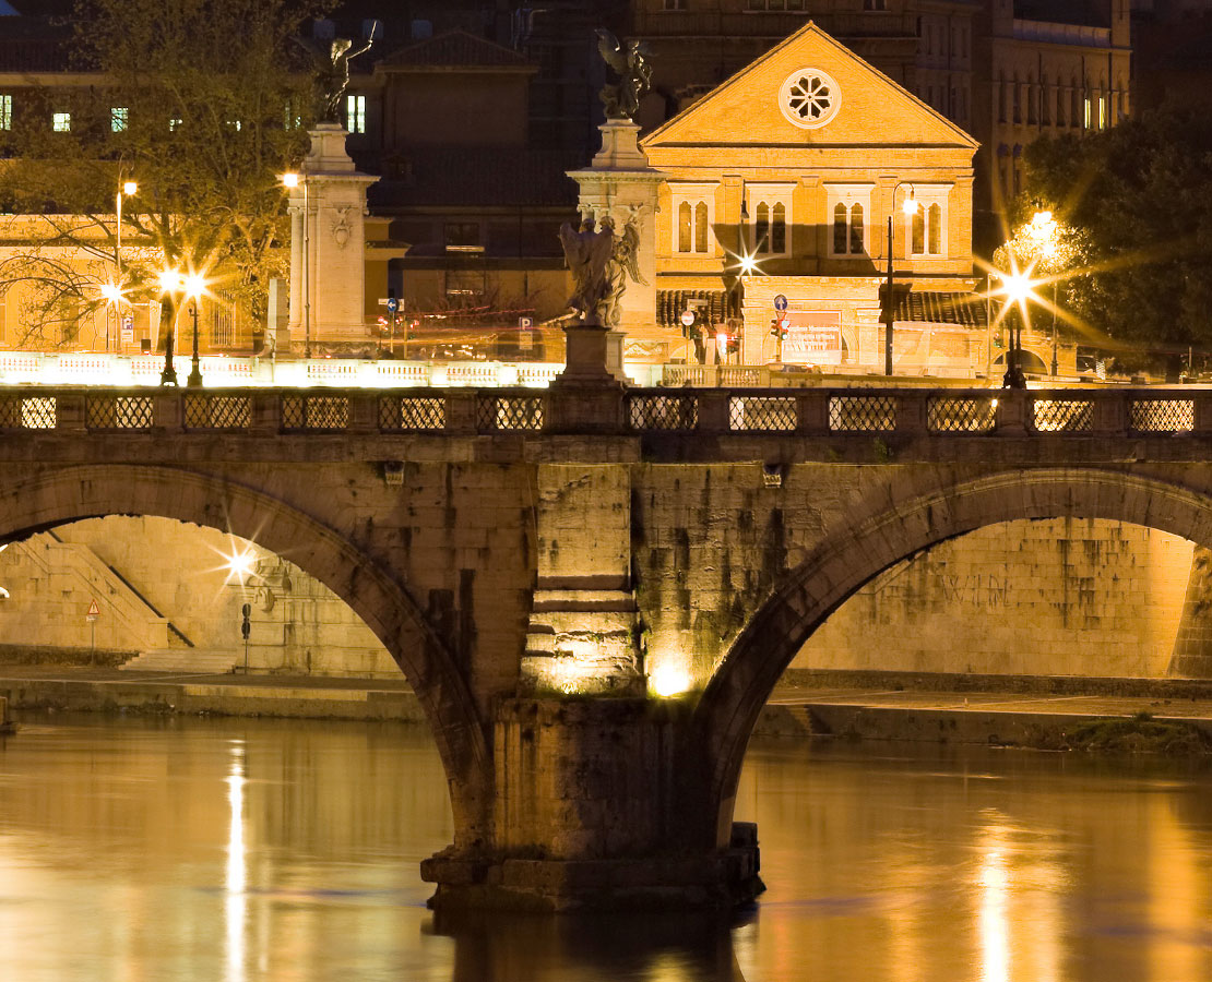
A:
[[[732,923],[435,924],[433,741],[390,724],[27,717],[0,737],[12,982],[1207,982],[1212,770],[762,742]]]

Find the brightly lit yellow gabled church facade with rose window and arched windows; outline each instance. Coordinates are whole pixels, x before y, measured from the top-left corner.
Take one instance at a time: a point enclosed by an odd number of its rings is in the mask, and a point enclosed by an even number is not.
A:
[[[882,371],[891,251],[897,374],[987,372],[972,259],[978,144],[814,24],[640,148],[651,278],[628,299],[634,310],[642,295],[652,314],[647,327],[623,325],[629,361]],[[627,189],[641,168],[616,165],[612,183],[599,159],[595,178],[572,174],[582,206],[634,213]]]

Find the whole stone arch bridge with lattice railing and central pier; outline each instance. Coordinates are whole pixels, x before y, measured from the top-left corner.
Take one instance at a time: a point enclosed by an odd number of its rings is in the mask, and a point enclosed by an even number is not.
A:
[[[153,515],[327,584],[438,741],[436,906],[724,906],[749,734],[830,611],[995,522],[1212,545],[1210,441],[1202,389],[6,389],[0,541]]]

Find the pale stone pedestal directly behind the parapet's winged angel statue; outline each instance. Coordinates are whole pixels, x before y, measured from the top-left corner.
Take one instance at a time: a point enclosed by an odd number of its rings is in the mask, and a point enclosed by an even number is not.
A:
[[[639,270],[645,282],[628,280],[618,328],[624,334],[651,332],[657,315],[657,188],[664,176],[648,166],[648,159],[639,145],[640,127],[636,124],[607,120],[599,130],[602,134],[601,150],[588,168],[570,171],[568,177],[581,188],[577,207],[582,213],[593,212],[599,222],[610,216],[618,232],[633,216],[639,224]]]

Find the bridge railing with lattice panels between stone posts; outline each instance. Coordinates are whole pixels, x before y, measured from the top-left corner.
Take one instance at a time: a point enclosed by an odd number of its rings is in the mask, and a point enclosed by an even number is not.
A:
[[[0,390],[0,431],[1081,436],[1212,432],[1212,390]]]

